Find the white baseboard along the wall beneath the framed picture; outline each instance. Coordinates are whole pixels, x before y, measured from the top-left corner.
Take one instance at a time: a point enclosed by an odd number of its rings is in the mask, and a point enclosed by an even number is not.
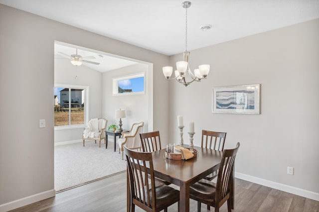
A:
[[[246,180],[246,181],[249,181],[252,183],[256,183],[259,185],[267,186],[267,187],[270,187],[273,189],[277,189],[280,191],[288,192],[288,193],[291,193],[294,195],[298,195],[301,197],[305,197],[305,198],[319,201],[319,193],[307,191],[304,189],[299,189],[296,187],[288,186],[288,185],[281,184],[281,183],[276,183],[276,182],[269,181],[269,180],[264,180],[261,178],[257,178],[257,177],[250,176],[250,175],[245,175],[245,174],[238,173],[238,172],[235,172],[235,178],[239,178],[239,179]]]

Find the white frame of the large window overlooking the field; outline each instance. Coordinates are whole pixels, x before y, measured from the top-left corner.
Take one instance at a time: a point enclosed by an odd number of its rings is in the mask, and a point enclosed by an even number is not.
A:
[[[84,95],[84,123],[83,124],[64,125],[64,126],[54,126],[54,130],[76,129],[76,128],[86,127],[87,123],[88,123],[88,117],[89,117],[89,111],[90,111],[89,110],[90,87],[89,86],[81,86],[81,85],[54,84],[54,88],[83,89],[84,90],[84,92],[83,92],[83,95]]]

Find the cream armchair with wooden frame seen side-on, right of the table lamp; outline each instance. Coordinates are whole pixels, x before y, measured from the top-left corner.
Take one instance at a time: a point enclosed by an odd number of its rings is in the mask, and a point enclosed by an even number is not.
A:
[[[122,160],[123,160],[123,152],[125,145],[129,149],[142,149],[142,143],[140,138],[140,133],[143,132],[144,122],[134,123],[129,132],[122,132],[122,136],[119,139],[119,153],[122,151]]]

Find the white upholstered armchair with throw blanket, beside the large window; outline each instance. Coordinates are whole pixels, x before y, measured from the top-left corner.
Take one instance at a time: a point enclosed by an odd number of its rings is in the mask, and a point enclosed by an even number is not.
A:
[[[100,142],[99,147],[101,147],[101,140],[104,139],[105,143],[105,133],[106,130],[106,124],[108,123],[108,120],[105,118],[93,118],[89,121],[88,126],[85,127],[83,132],[83,146],[85,140],[98,140]]]

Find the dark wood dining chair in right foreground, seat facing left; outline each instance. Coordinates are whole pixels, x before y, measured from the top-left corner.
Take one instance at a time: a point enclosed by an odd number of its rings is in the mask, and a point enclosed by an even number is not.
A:
[[[201,203],[219,208],[227,201],[228,212],[231,212],[231,187],[235,157],[239,149],[239,142],[234,149],[225,149],[219,166],[217,183],[201,179],[190,186],[189,197],[197,201],[197,212],[200,212]],[[234,195],[234,194],[232,194]]]

